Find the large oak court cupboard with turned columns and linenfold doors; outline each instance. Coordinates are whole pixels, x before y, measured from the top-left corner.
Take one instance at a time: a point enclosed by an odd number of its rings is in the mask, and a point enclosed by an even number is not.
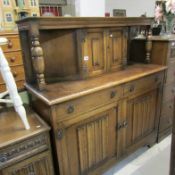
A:
[[[132,37],[148,33],[151,21],[18,21],[26,88],[33,109],[52,127],[57,174],[101,174],[156,143],[166,67],[127,64]]]

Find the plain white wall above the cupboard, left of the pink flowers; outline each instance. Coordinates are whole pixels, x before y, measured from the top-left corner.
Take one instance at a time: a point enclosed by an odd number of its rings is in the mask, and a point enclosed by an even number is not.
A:
[[[146,12],[148,17],[154,16],[155,0],[106,0],[106,12],[113,16],[113,9],[126,9],[129,17],[141,16]]]

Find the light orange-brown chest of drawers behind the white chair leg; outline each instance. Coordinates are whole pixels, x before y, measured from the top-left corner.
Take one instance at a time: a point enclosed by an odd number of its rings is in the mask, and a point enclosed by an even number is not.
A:
[[[19,35],[17,32],[0,32],[0,37],[5,37],[8,39],[8,44],[2,46],[2,50],[11,68],[11,72],[16,81],[18,90],[24,89],[24,67],[22,61],[22,53]],[[0,92],[6,90],[6,85],[0,75]]]

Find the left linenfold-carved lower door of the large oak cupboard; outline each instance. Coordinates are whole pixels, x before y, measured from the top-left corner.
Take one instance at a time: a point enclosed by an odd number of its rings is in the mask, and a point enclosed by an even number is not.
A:
[[[66,129],[61,145],[67,145],[69,169],[64,167],[61,174],[86,174],[116,156],[117,116],[113,107]]]

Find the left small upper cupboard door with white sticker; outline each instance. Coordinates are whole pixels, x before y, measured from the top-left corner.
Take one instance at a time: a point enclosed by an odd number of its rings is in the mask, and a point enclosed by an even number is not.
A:
[[[99,75],[105,72],[104,29],[78,31],[79,57],[83,75]]]

